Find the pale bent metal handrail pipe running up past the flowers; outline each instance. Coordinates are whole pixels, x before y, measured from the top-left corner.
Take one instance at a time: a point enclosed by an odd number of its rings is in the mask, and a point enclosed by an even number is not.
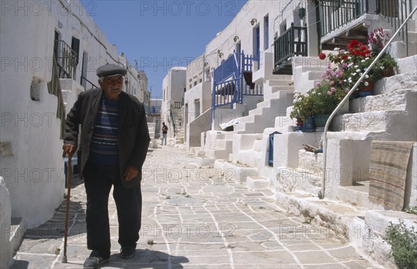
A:
[[[358,88],[359,83],[361,83],[363,78],[365,78],[366,74],[368,74],[368,72],[372,69],[372,67],[375,65],[375,63],[377,63],[379,58],[381,58],[382,54],[384,54],[386,49],[388,49],[389,45],[393,42],[395,36],[398,35],[398,33],[400,33],[400,30],[402,29],[402,27],[404,27],[404,25],[407,24],[407,22],[409,21],[411,16],[416,12],[416,10],[417,10],[417,6],[409,14],[407,19],[405,19],[405,21],[401,24],[401,26],[398,27],[398,30],[393,34],[393,36],[391,37],[389,42],[386,43],[386,45],[382,49],[382,51],[379,52],[379,54],[377,55],[377,58],[375,58],[375,60],[373,60],[373,62],[369,65],[369,67],[366,69],[366,71],[363,72],[362,76],[358,79],[357,83],[354,83],[352,89],[350,89],[350,91],[347,92],[347,95],[345,96],[345,98],[343,98],[343,100],[340,102],[340,104],[338,104],[338,106],[334,109],[334,111],[332,112],[332,114],[330,115],[329,119],[326,122],[325,130],[323,131],[323,170],[322,170],[322,189],[321,189],[321,193],[322,193],[323,198],[325,197],[325,190],[326,190],[327,130],[329,129],[330,122],[332,121],[334,115],[336,115],[336,113],[339,111],[339,109],[343,106],[343,104],[345,104],[345,101],[347,101],[347,99],[349,99],[350,95],[352,95],[354,90],[356,90]]]

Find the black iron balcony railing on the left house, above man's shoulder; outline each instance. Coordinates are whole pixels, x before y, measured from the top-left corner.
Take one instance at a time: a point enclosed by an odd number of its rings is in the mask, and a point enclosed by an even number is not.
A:
[[[75,79],[78,55],[64,40],[55,40],[54,53],[60,79]]]

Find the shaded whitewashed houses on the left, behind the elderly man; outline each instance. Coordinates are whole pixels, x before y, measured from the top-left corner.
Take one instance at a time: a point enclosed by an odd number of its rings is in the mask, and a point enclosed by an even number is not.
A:
[[[77,95],[97,87],[97,67],[126,67],[123,90],[150,100],[145,73],[117,54],[80,1],[2,1],[0,27],[0,268],[7,268],[24,231],[63,202],[62,122]]]

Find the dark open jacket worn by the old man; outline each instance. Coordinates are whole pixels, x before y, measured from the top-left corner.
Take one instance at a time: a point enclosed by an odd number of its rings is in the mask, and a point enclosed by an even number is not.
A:
[[[101,88],[81,92],[65,121],[64,144],[78,145],[79,124],[81,138],[78,147],[80,175],[90,154],[90,142],[95,120],[99,111]],[[149,131],[145,108],[133,95],[121,92],[119,95],[119,167],[120,178],[125,188],[133,188],[142,180],[142,165],[149,147]],[[127,166],[138,169],[138,175],[130,181],[124,180]]]

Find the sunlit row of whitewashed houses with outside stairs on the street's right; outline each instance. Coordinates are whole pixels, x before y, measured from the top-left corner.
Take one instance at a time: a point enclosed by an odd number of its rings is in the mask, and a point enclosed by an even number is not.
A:
[[[392,36],[416,8],[416,1],[258,3],[247,1],[232,22],[206,45],[203,66],[210,69],[207,79],[203,79],[204,68],[188,67],[184,111],[190,115],[196,111],[196,101],[202,104],[198,97],[208,95],[204,89],[209,88],[204,83],[211,83],[212,99],[211,108],[199,111],[198,117],[188,117],[193,119],[186,127],[188,149],[202,156],[197,161],[200,166],[231,170],[232,178],[247,188],[275,191],[277,205],[319,223],[325,220],[327,225],[340,228],[338,232],[370,259],[393,266],[389,247],[382,241],[384,230],[389,221],[398,222],[398,218],[404,219],[407,227],[416,226],[415,215],[389,211],[388,206],[372,201],[372,171],[379,154],[373,144],[414,144],[403,165],[406,177],[401,207],[416,206],[416,13],[389,48],[398,61],[395,75],[377,81],[374,95],[350,100],[334,118],[327,140],[322,130],[294,131],[295,122],[289,113],[293,92],[305,93],[321,81],[327,67],[326,60],[318,58],[321,51],[345,47],[351,40],[365,42],[375,28],[384,28]],[[234,51],[245,51],[241,57],[247,63],[252,60],[252,69],[245,70]],[[204,65],[206,62],[208,65]],[[239,72],[250,73],[244,78],[246,86],[240,88],[241,92],[236,82],[241,79]],[[245,92],[250,82],[261,88],[261,95]],[[211,115],[210,124],[198,124],[207,115]],[[224,124],[227,121],[229,124]],[[200,143],[198,133],[202,133]],[[320,149],[325,142],[326,162],[321,152],[305,150],[305,145]],[[354,236],[357,227],[373,229],[361,229],[357,231],[359,236]]]

